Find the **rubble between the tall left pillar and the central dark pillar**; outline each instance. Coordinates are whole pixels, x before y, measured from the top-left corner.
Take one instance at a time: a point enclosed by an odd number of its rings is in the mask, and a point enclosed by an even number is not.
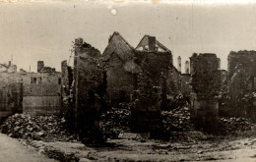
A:
[[[117,138],[120,133],[130,132],[131,111],[125,107],[111,107],[101,115],[100,128],[105,137]]]

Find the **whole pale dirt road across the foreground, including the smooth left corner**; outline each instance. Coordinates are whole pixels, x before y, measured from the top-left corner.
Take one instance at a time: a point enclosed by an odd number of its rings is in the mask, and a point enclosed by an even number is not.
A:
[[[255,137],[191,142],[110,139],[110,145],[99,147],[64,141],[31,140],[33,147],[25,143],[0,134],[0,162],[54,161],[40,154],[40,150],[74,154],[81,161],[256,161]]]

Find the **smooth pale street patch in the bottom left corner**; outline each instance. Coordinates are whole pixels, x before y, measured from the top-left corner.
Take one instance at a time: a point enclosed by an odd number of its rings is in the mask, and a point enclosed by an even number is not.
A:
[[[0,134],[1,162],[53,162],[32,147],[23,145],[18,139]]]

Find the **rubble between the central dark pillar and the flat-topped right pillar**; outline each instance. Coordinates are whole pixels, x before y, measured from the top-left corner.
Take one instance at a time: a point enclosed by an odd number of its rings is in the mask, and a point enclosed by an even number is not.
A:
[[[190,120],[190,109],[187,106],[162,111],[162,124],[166,131],[191,131],[194,126]]]

